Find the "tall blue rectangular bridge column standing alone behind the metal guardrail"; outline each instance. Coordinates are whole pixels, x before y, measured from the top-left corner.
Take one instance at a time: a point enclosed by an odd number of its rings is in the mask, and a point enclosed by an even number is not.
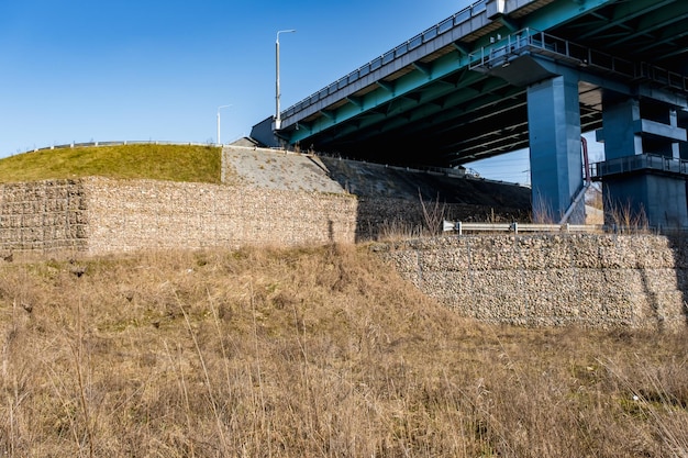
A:
[[[529,86],[533,219],[558,222],[582,189],[578,78],[562,75]],[[585,202],[568,222],[585,223]]]

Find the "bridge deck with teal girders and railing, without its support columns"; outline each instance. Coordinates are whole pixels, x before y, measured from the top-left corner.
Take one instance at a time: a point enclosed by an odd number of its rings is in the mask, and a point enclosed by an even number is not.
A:
[[[528,147],[525,87],[499,75],[525,30],[520,53],[591,76],[579,83],[584,132],[601,126],[604,83],[687,91],[686,1],[481,0],[288,108],[278,134],[390,164],[451,166]]]

